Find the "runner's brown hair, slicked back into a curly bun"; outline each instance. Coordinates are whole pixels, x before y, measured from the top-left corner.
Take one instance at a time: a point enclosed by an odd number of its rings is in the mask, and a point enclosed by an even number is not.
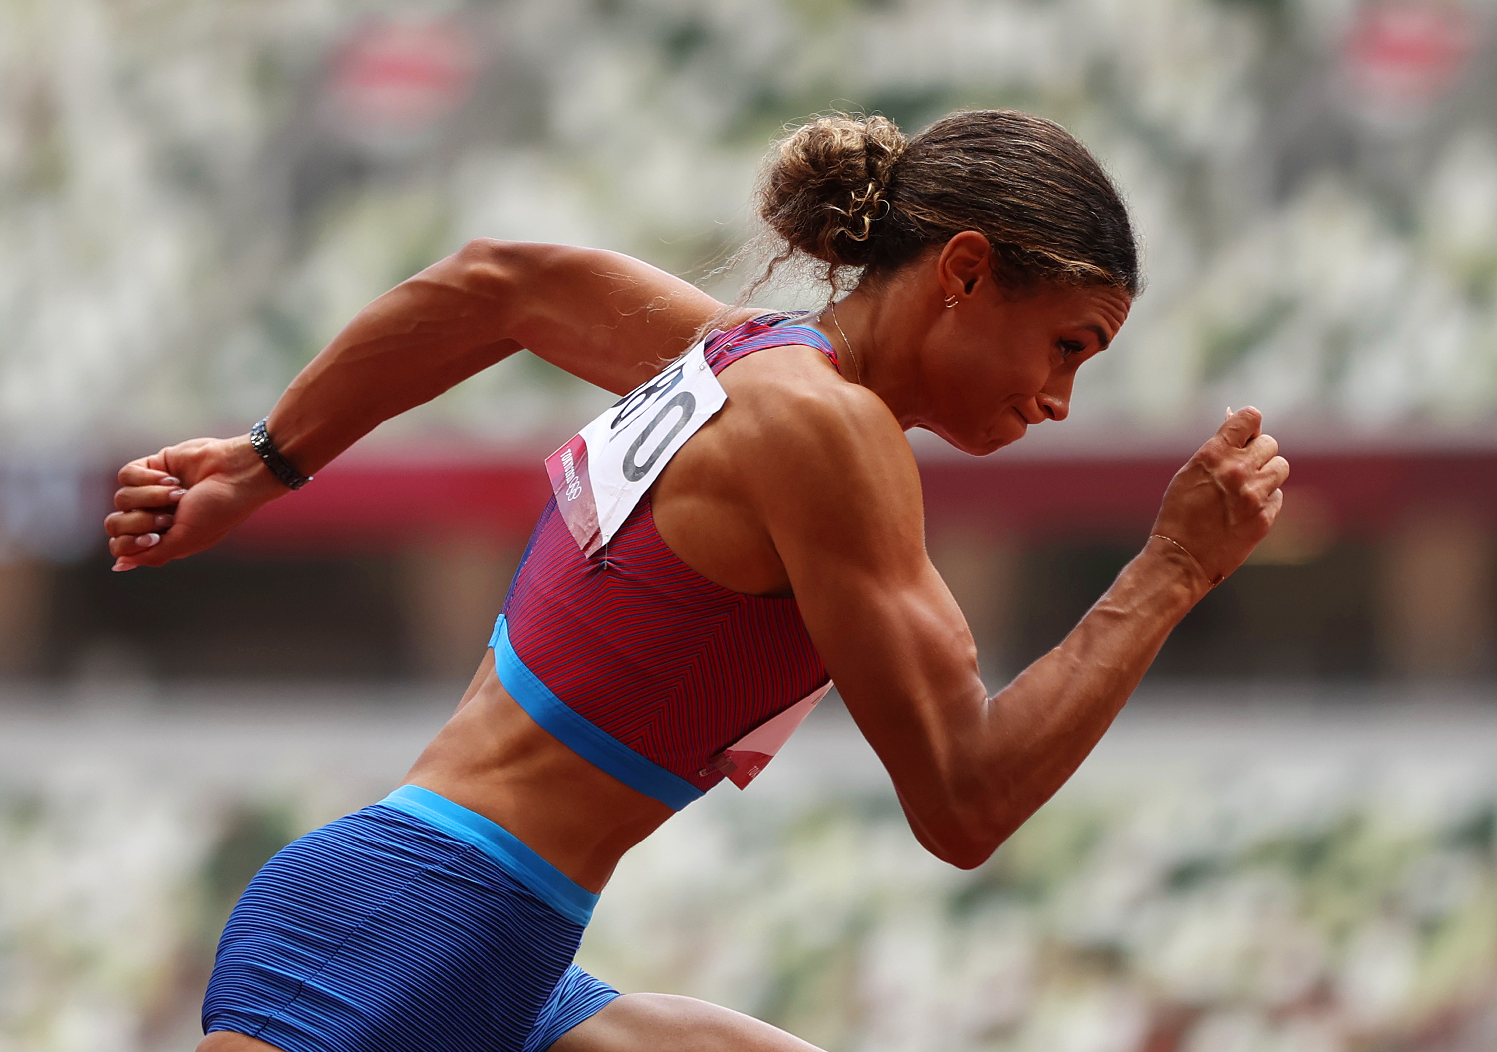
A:
[[[876,278],[963,230],[988,238],[1013,289],[1141,287],[1112,180],[1060,124],[1012,109],[955,112],[913,139],[886,117],[817,117],[771,154],[759,215],[781,245],[751,287],[795,256],[823,263],[834,287],[846,268]]]

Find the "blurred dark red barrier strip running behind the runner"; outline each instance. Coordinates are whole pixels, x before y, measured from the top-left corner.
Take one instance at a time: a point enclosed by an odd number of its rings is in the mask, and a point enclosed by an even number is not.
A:
[[[1136,540],[1178,458],[939,459],[921,465],[930,530],[960,525],[1027,539]],[[1340,534],[1373,537],[1419,510],[1497,522],[1497,453],[1295,456],[1296,494],[1328,509]],[[551,489],[539,458],[335,464],[262,509],[235,546],[398,551],[443,536],[522,543]]]

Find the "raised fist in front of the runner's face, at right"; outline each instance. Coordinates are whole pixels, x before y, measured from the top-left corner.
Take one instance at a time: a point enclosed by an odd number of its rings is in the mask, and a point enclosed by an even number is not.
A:
[[[1280,486],[1289,477],[1289,461],[1262,426],[1263,415],[1253,407],[1229,413],[1175,473],[1154,519],[1153,531],[1189,552],[1207,584],[1243,564],[1284,504]]]

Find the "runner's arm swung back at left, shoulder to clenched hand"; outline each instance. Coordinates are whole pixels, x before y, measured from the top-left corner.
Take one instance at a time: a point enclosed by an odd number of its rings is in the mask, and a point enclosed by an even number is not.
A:
[[[618,253],[473,241],[359,311],[292,380],[268,429],[313,474],[383,421],[521,349],[624,394],[719,310],[692,284]],[[117,569],[202,551],[289,492],[249,435],[169,446],[121,468],[120,486],[105,521]]]

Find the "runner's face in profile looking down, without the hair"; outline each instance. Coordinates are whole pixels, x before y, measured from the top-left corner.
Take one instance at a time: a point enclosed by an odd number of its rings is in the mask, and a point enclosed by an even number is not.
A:
[[[931,334],[921,426],[981,456],[1034,423],[1064,421],[1076,370],[1112,343],[1130,305],[1112,287],[1046,286],[1013,296],[981,281]]]

